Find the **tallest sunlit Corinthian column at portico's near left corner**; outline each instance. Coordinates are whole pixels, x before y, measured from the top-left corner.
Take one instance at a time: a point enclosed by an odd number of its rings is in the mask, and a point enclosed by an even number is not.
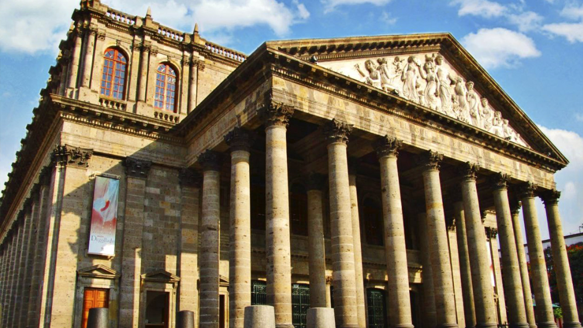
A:
[[[268,102],[265,118],[265,244],[267,303],[275,308],[275,326],[291,323],[290,214],[287,189],[287,124],[293,108]]]

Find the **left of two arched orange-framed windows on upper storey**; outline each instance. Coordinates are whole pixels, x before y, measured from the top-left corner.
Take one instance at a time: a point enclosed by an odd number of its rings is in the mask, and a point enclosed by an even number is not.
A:
[[[124,99],[125,75],[128,60],[115,48],[107,48],[103,55],[101,74],[101,95],[114,99]]]

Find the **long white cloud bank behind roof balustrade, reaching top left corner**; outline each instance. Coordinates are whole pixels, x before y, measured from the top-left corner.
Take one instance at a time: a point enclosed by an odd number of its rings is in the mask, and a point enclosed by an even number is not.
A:
[[[310,16],[297,0],[286,5],[278,0],[103,0],[131,15],[152,18],[163,25],[190,31],[198,22],[201,32],[223,34],[241,27],[266,25],[279,36]],[[71,13],[79,2],[71,0],[0,1],[0,47],[2,51],[42,53],[56,51],[71,25]]]

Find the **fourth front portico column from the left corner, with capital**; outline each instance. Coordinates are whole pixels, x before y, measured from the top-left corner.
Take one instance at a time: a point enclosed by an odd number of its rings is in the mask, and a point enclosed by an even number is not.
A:
[[[454,282],[451,279],[449,246],[445,228],[439,163],[443,155],[434,151],[424,154],[425,169],[423,184],[425,189],[425,209],[431,252],[434,298],[436,303],[437,327],[457,327],[455,313]]]

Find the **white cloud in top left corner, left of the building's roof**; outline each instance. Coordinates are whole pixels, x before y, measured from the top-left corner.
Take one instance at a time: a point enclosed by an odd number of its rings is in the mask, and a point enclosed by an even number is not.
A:
[[[0,48],[13,53],[55,53],[79,2],[0,1]]]

